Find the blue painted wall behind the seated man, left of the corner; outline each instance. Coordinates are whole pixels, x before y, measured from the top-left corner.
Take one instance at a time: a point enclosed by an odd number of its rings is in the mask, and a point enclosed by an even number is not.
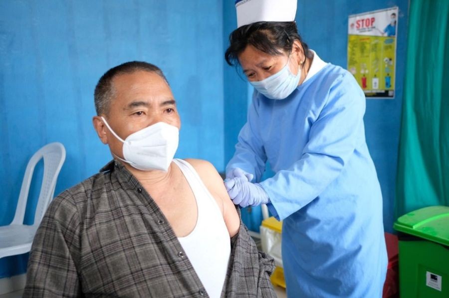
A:
[[[171,82],[182,119],[177,157],[223,171],[222,32],[222,1],[0,1],[0,225],[11,222],[26,163],[44,144],[67,150],[56,194],[111,159],[91,124],[93,90],[130,60],[158,65]],[[0,278],[25,272],[26,259],[0,259]]]

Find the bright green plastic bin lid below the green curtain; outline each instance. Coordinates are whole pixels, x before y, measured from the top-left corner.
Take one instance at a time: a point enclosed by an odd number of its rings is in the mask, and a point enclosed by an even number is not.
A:
[[[394,229],[449,246],[449,206],[431,206],[398,218]]]

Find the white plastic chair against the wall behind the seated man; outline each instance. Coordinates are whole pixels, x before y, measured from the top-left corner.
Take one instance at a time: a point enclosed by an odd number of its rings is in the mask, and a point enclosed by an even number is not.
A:
[[[34,167],[42,158],[44,170],[36,213],[34,214],[34,223],[31,226],[24,225],[23,217],[25,215],[31,178]],[[14,219],[8,226],[0,227],[0,258],[24,254],[31,249],[34,234],[39,227],[45,210],[53,199],[56,179],[64,160],[65,149],[61,143],[50,143],[43,146],[29,160],[20,188]]]

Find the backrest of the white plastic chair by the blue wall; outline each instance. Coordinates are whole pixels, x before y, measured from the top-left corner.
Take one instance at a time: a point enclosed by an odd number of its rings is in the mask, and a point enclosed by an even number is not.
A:
[[[42,217],[47,209],[50,201],[53,199],[54,189],[56,187],[56,179],[59,171],[65,160],[65,148],[61,143],[50,143],[40,148],[33,154],[29,160],[25,175],[23,176],[22,186],[15,209],[14,219],[11,224],[22,225],[23,217],[25,216],[26,201],[28,200],[29,186],[31,185],[31,178],[36,164],[43,158],[44,171],[42,178],[42,185],[40,188],[39,199],[36,206],[36,213],[34,214],[33,225],[39,225]]]

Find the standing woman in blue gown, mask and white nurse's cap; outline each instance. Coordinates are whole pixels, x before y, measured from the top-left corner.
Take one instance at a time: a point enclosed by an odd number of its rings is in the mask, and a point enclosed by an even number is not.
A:
[[[363,91],[302,41],[295,0],[235,6],[238,28],[225,59],[255,90],[226,167],[230,198],[267,204],[283,220],[288,297],[381,297],[382,194],[365,141]],[[267,161],[276,174],[260,182]]]

